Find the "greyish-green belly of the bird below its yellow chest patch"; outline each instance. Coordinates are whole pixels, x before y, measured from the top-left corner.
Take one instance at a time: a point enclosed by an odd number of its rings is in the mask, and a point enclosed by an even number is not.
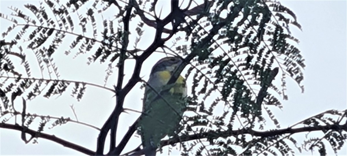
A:
[[[144,146],[158,147],[163,137],[168,134],[173,135],[179,128],[179,122],[186,108],[182,95],[162,93],[162,97],[170,98],[164,101],[159,97],[146,104],[144,115],[139,122]]]

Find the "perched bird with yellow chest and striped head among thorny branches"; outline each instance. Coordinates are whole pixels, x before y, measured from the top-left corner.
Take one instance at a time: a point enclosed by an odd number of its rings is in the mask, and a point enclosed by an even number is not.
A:
[[[146,156],[156,154],[163,137],[175,134],[187,108],[184,100],[187,96],[185,79],[179,76],[176,83],[167,84],[181,63],[180,58],[166,57],[156,62],[151,70],[145,87],[143,113],[138,121]]]

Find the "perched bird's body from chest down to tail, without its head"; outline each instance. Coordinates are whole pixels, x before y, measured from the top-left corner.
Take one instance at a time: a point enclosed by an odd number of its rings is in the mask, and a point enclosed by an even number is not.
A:
[[[171,88],[175,89],[174,94],[170,93]],[[143,147],[152,149],[145,152],[146,156],[155,155],[155,150],[160,146],[160,140],[163,137],[175,134],[187,107],[184,99],[186,97],[186,84],[172,84],[160,89],[157,92],[161,96],[155,93],[152,88],[146,87],[143,115],[138,122]]]

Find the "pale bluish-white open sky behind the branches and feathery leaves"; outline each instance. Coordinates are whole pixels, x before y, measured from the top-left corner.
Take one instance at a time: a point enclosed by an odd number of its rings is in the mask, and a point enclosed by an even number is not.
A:
[[[161,0],[160,2],[163,3],[163,10],[169,10],[169,5],[166,5],[169,1]],[[12,5],[23,8],[22,6],[26,3],[28,3],[28,1],[1,0],[0,12],[9,15],[11,11],[7,9],[7,7]],[[37,3],[37,1],[35,1],[35,3]],[[294,11],[298,22],[302,25],[302,32],[295,27],[291,29],[291,32],[300,40],[299,49],[302,51],[302,55],[306,60],[303,81],[305,92],[301,93],[301,89],[294,80],[287,79],[287,95],[289,96],[289,100],[281,101],[283,103],[282,110],[276,108],[272,109],[274,115],[281,124],[281,128],[286,128],[289,125],[329,109],[343,110],[347,108],[347,3],[346,1],[281,1],[281,3]],[[163,12],[163,14],[165,13]],[[0,22],[0,32],[2,33],[11,23],[5,19],[0,19]],[[75,27],[78,27],[78,25],[75,25]],[[135,27],[133,29],[135,29]],[[139,42],[141,47],[147,47],[152,42],[153,30],[154,29],[148,29],[144,32],[143,36],[145,37]],[[64,55],[64,51],[60,54],[58,52],[56,53],[57,54],[54,55],[57,55],[57,57],[54,59],[59,68],[61,78],[83,80],[99,85],[104,84],[103,80],[107,63],[100,64],[96,62],[85,67],[87,57],[91,54],[82,54],[72,59],[74,54],[66,56]],[[140,76],[144,76],[143,79],[147,80],[149,76],[148,69],[163,56],[162,54],[154,54],[149,58],[150,61],[145,61]],[[32,51],[28,51],[27,58],[30,59],[30,57],[33,57]],[[130,70],[133,69],[132,63],[132,61],[126,62],[126,66],[129,67]],[[72,66],[81,66],[81,68],[71,68]],[[37,74],[34,72],[34,66],[32,70],[33,75]],[[112,80],[117,79],[117,71],[116,68],[113,69],[113,75],[109,78],[106,85],[107,87],[111,88],[112,85],[115,84],[115,81]],[[126,72],[125,83],[131,76],[130,73],[131,71]],[[141,84],[137,84],[128,94],[125,99],[125,108],[141,110],[143,90],[139,89],[140,86]],[[101,128],[115,106],[115,98],[112,98],[113,94],[107,90],[89,86],[87,87],[82,101],[77,102],[76,99],[71,98],[70,90],[58,98],[52,97],[51,99],[46,99],[38,97],[32,101],[27,101],[28,112],[55,117],[71,117],[75,119],[69,107],[69,105],[74,104],[79,121]],[[16,102],[20,103],[19,100],[16,100]],[[133,123],[138,115],[139,114],[133,112],[122,114],[119,122],[121,131],[119,131],[117,136],[124,135],[127,131],[127,127]],[[34,124],[29,128],[34,130],[37,129]],[[96,149],[96,139],[99,134],[97,130],[74,123],[57,126],[52,130],[45,129],[43,132],[54,134],[57,137],[91,150]],[[296,139],[298,139],[298,143],[301,145],[303,143],[303,138],[300,137],[304,137],[304,135],[298,136],[299,137],[296,137]],[[316,137],[321,136],[322,135],[318,135]],[[311,137],[314,136],[311,135]],[[118,141],[119,139],[117,142]],[[19,131],[0,129],[1,155],[81,154],[78,151],[42,138],[39,138],[38,142],[39,144],[32,144],[32,142],[25,144],[20,138]],[[134,149],[140,142],[141,139],[133,136],[124,151]],[[108,143],[106,143],[106,147],[108,147]],[[327,149],[329,155],[334,154],[330,146],[328,146]],[[163,154],[165,155],[167,153],[164,151]],[[312,153],[311,151],[303,151],[302,154],[311,155]],[[318,152],[314,151],[313,154],[317,155]],[[338,151],[338,154],[347,155],[346,145]]]

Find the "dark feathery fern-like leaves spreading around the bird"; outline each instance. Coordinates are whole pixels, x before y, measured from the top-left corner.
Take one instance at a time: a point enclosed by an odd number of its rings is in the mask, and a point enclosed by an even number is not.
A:
[[[299,40],[289,31],[290,25],[301,29],[293,11],[271,0],[212,0],[195,7],[192,7],[193,1],[189,1],[188,7],[181,7],[172,0],[171,13],[159,18],[160,15],[154,12],[156,3],[45,0],[39,6],[25,5],[32,14],[24,14],[15,7],[11,8],[11,16],[0,13],[1,18],[13,23],[2,33],[0,41],[1,128],[22,131],[25,142],[41,137],[88,155],[103,154],[106,135],[110,131],[108,154],[125,153],[127,151],[123,149],[136,131],[136,122],[125,136],[116,136],[119,115],[124,112],[124,98],[142,81],[139,73],[143,62],[154,51],[161,51],[184,59],[179,70],[187,69],[185,77],[193,82],[189,86],[189,109],[181,121],[181,129],[172,138],[162,140],[162,147],[179,144],[182,155],[294,155],[293,148],[299,151],[318,148],[320,154],[325,155],[326,141],[334,151],[345,144],[347,128],[342,122],[346,121],[346,110],[326,111],[286,129],[280,129],[280,123],[270,110],[270,107],[282,108],[280,98],[288,99],[286,81],[294,80],[304,92],[301,84],[304,59],[297,47]],[[88,9],[81,11],[82,7]],[[103,18],[102,13],[109,10],[116,10],[113,14],[117,21]],[[102,23],[96,20],[100,18]],[[129,32],[129,26],[134,25],[132,20],[136,19],[139,20],[136,32]],[[168,24],[171,29],[166,27]],[[97,28],[99,26],[103,29]],[[155,29],[155,39],[142,50],[137,46],[145,26]],[[179,33],[185,36],[179,36]],[[136,37],[134,47],[128,46],[130,35]],[[67,47],[63,42],[68,38],[73,41]],[[22,44],[24,41],[27,44]],[[169,47],[170,41],[174,42],[173,47]],[[60,79],[53,59],[59,48],[74,58],[89,55],[87,64],[108,63],[105,83],[113,69],[118,68],[117,85],[109,89]],[[32,76],[32,67],[23,49],[35,53],[39,64],[39,69],[35,70],[41,72],[41,78]],[[19,58],[21,64],[13,63],[13,58]],[[136,63],[132,77],[123,84],[124,62],[128,59],[134,59]],[[25,70],[19,70],[20,66]],[[176,72],[169,84],[176,81],[179,73]],[[49,75],[49,79],[43,78],[44,74]],[[274,83],[276,80],[278,83]],[[70,92],[80,101],[88,86],[109,89],[117,97],[109,119],[101,129],[96,128],[100,130],[96,151],[44,133],[52,119],[50,128],[76,121],[30,114],[25,110],[25,101],[40,95],[52,98]],[[13,106],[15,99],[20,97],[23,98],[22,111]],[[7,123],[8,116],[16,115],[22,115],[22,125]],[[269,117],[270,124],[276,125],[277,129],[264,130],[265,117]],[[28,128],[34,120],[40,120],[37,130]],[[320,131],[324,137],[307,138],[299,147],[293,136],[311,131]],[[31,139],[24,138],[25,133],[30,134]],[[122,138],[118,145],[116,137]],[[138,148],[130,153],[134,152],[142,154]]]

